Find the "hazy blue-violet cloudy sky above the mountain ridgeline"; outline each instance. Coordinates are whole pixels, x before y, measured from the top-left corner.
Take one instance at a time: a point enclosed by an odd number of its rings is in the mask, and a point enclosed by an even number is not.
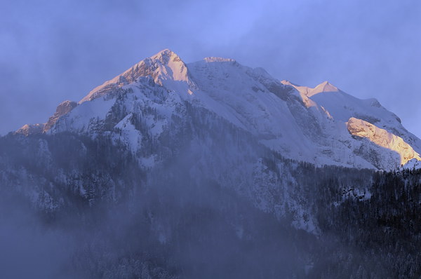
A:
[[[0,134],[171,48],[375,97],[421,137],[421,1],[0,0]]]

